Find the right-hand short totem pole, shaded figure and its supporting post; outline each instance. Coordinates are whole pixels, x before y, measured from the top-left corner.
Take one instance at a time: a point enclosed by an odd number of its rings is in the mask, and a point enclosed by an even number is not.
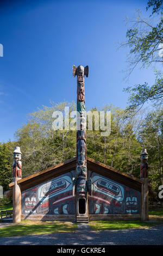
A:
[[[140,179],[144,181],[141,187],[141,220],[148,221],[148,153],[147,149],[143,148],[140,154]]]

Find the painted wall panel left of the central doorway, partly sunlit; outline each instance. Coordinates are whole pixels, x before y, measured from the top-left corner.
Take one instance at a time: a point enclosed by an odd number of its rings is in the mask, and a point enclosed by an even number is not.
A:
[[[74,215],[75,171],[22,192],[22,215]]]

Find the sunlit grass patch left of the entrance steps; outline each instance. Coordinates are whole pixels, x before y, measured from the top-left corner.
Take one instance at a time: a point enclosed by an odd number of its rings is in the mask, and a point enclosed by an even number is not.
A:
[[[73,232],[77,224],[72,222],[46,221],[32,222],[21,221],[18,224],[11,224],[8,227],[0,228],[0,237],[23,236],[23,235],[40,235],[57,232]]]

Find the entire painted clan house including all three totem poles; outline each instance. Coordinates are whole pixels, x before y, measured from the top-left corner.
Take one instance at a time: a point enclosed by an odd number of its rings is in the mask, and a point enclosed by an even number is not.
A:
[[[84,80],[88,75],[88,66],[73,65],[80,113],[76,157],[22,179],[23,153],[15,148],[8,193],[13,194],[13,222],[148,220],[148,195],[155,192],[148,184],[147,150],[140,155],[140,179],[86,156]]]

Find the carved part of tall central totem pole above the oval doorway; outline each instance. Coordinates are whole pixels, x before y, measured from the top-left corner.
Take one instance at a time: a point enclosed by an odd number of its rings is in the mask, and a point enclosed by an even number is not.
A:
[[[77,76],[77,120],[80,130],[77,130],[77,168],[76,168],[76,191],[78,196],[86,197],[87,193],[87,167],[86,167],[86,119],[85,119],[85,90],[84,75],[88,77],[89,67],[74,66],[73,77]]]

